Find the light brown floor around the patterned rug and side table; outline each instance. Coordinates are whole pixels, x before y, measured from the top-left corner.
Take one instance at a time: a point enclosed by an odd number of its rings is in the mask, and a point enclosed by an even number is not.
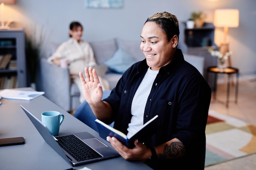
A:
[[[216,100],[213,97],[210,104],[210,110],[218,113],[236,117],[250,124],[256,125],[256,75],[240,75],[238,86],[238,103],[234,103],[236,77],[231,77],[232,85],[230,97],[232,100],[229,107],[218,101],[226,100],[227,77],[225,75],[218,79]],[[238,159],[218,163],[213,166],[205,167],[205,170],[254,170],[256,167],[256,154],[240,157]]]

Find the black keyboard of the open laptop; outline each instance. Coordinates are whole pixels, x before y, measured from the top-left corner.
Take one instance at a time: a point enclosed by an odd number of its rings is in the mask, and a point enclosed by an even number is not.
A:
[[[70,155],[72,155],[76,161],[84,161],[102,157],[75,135],[56,137],[56,139],[58,139],[58,144]]]

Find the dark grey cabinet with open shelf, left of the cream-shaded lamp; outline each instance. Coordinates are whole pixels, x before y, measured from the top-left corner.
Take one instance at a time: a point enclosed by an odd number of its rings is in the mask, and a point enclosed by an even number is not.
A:
[[[208,49],[211,47],[218,47],[214,43],[215,26],[212,23],[205,22],[200,28],[194,27],[193,29],[186,28],[186,22],[180,23],[180,37],[179,49],[183,53],[198,55],[204,57],[204,77],[209,66],[217,65],[217,57],[211,56]],[[208,80],[211,88],[214,88],[213,77],[210,76]]]

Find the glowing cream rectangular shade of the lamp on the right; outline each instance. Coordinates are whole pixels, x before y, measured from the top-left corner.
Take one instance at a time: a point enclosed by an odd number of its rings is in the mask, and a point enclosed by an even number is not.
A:
[[[213,23],[216,27],[238,27],[238,9],[216,9]]]

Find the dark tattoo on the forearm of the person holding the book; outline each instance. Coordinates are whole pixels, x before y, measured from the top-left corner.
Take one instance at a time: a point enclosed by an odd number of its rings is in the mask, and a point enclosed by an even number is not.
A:
[[[184,145],[180,141],[172,142],[170,146],[165,144],[164,146],[164,152],[162,154],[159,154],[159,159],[168,159],[172,157],[177,157],[180,154],[183,154],[185,152]]]

